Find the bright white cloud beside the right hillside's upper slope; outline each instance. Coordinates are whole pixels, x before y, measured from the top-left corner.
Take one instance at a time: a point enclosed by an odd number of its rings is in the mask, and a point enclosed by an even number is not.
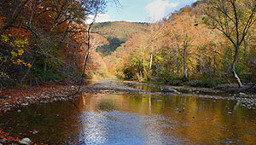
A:
[[[155,0],[153,3],[149,3],[145,9],[149,14],[150,21],[157,21],[172,13],[178,4],[170,3],[169,0]]]

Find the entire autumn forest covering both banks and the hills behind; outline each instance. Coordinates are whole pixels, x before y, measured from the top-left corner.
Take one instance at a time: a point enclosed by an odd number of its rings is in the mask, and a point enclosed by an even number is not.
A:
[[[199,0],[156,23],[84,22],[107,3],[117,1],[1,1],[1,86],[255,83],[254,1]]]

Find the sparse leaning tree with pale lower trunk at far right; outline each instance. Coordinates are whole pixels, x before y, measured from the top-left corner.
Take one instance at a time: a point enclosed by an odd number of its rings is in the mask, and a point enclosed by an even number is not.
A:
[[[236,73],[236,61],[241,44],[256,21],[255,13],[256,1],[254,0],[212,0],[207,3],[205,9],[207,25],[222,32],[234,48],[230,70],[239,87],[243,85]]]

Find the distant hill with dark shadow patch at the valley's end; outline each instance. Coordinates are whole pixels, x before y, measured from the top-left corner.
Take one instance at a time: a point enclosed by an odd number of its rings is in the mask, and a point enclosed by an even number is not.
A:
[[[148,23],[126,21],[96,23],[92,30],[99,32],[109,42],[108,45],[103,45],[97,48],[96,51],[103,56],[111,55],[115,49],[131,38],[131,35],[144,31],[148,25]]]

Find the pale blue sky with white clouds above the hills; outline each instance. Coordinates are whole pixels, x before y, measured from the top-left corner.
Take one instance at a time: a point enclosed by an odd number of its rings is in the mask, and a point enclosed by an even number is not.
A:
[[[156,22],[175,10],[195,3],[196,0],[119,0],[121,7],[108,4],[105,14],[98,14],[96,22],[132,21]]]

